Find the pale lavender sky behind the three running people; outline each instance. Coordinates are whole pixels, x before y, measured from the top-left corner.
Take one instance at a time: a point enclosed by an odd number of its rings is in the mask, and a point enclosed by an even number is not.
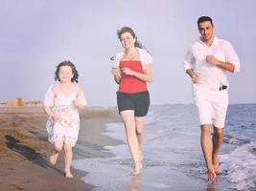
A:
[[[89,106],[115,106],[110,73],[123,50],[117,30],[131,27],[153,57],[151,104],[193,103],[183,59],[201,15],[231,42],[241,73],[228,74],[230,103],[256,103],[254,0],[0,0],[0,101],[42,100],[59,62],[72,61]]]

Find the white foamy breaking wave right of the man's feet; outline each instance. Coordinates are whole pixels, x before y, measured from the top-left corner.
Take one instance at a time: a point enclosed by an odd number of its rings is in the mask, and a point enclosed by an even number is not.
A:
[[[221,173],[235,182],[237,190],[256,189],[256,142],[244,144],[230,154],[220,155]]]

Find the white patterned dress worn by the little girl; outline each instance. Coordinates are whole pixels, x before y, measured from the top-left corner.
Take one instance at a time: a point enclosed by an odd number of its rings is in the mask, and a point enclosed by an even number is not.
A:
[[[73,101],[78,98],[82,105],[86,105],[87,101],[83,93],[78,97],[75,92],[69,96],[64,96],[61,93],[55,96],[52,87],[53,85],[50,86],[45,95],[44,105],[52,107],[52,112],[60,117],[60,121],[54,122],[51,118],[47,120],[48,140],[51,143],[64,140],[70,146],[75,146],[79,137],[80,116]]]

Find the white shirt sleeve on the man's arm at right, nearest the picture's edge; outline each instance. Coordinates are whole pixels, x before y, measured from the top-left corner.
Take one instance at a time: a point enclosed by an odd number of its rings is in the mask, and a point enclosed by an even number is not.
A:
[[[240,60],[235,52],[234,48],[232,45],[226,41],[225,46],[224,46],[224,52],[225,52],[225,59],[227,62],[231,63],[234,65],[235,70],[234,73],[239,73],[240,72]]]

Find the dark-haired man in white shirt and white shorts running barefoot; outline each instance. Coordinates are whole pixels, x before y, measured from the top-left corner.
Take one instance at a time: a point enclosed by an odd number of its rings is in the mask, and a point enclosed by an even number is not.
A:
[[[231,44],[214,35],[210,17],[198,18],[198,31],[200,37],[186,53],[184,68],[193,81],[193,96],[201,128],[200,143],[208,180],[215,180],[219,171],[218,156],[228,105],[226,72],[239,72],[240,61]]]

